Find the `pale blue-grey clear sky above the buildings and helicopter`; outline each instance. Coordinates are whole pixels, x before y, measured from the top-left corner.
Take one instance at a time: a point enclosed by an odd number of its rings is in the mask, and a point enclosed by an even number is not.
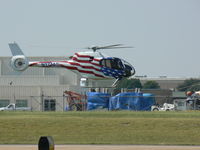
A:
[[[0,56],[71,56],[91,45],[148,77],[200,77],[199,0],[0,0]]]

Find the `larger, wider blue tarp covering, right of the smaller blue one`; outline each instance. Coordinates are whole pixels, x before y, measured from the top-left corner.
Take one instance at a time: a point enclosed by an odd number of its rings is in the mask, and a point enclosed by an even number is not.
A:
[[[153,94],[143,93],[119,93],[110,98],[109,110],[151,110],[151,106],[155,103]]]

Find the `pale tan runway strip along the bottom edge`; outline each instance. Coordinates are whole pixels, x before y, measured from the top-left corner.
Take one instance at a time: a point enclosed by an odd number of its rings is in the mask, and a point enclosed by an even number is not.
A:
[[[56,145],[55,150],[199,150],[200,146]],[[38,150],[37,145],[0,145],[0,150]]]

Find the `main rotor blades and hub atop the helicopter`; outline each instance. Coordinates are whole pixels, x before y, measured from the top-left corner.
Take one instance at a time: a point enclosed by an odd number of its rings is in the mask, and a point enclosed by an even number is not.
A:
[[[100,49],[118,49],[118,48],[134,48],[134,47],[132,47],[132,46],[123,46],[123,44],[86,47],[86,49],[92,49],[94,52],[96,52],[97,50],[100,50]]]

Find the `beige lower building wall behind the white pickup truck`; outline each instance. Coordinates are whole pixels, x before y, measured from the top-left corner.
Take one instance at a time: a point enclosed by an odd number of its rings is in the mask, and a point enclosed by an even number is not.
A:
[[[0,86],[0,106],[26,101],[33,111],[45,111],[45,101],[55,101],[55,111],[63,111],[67,105],[64,91],[79,92],[77,86]],[[49,104],[51,105],[51,104]],[[50,110],[48,110],[50,111]]]

